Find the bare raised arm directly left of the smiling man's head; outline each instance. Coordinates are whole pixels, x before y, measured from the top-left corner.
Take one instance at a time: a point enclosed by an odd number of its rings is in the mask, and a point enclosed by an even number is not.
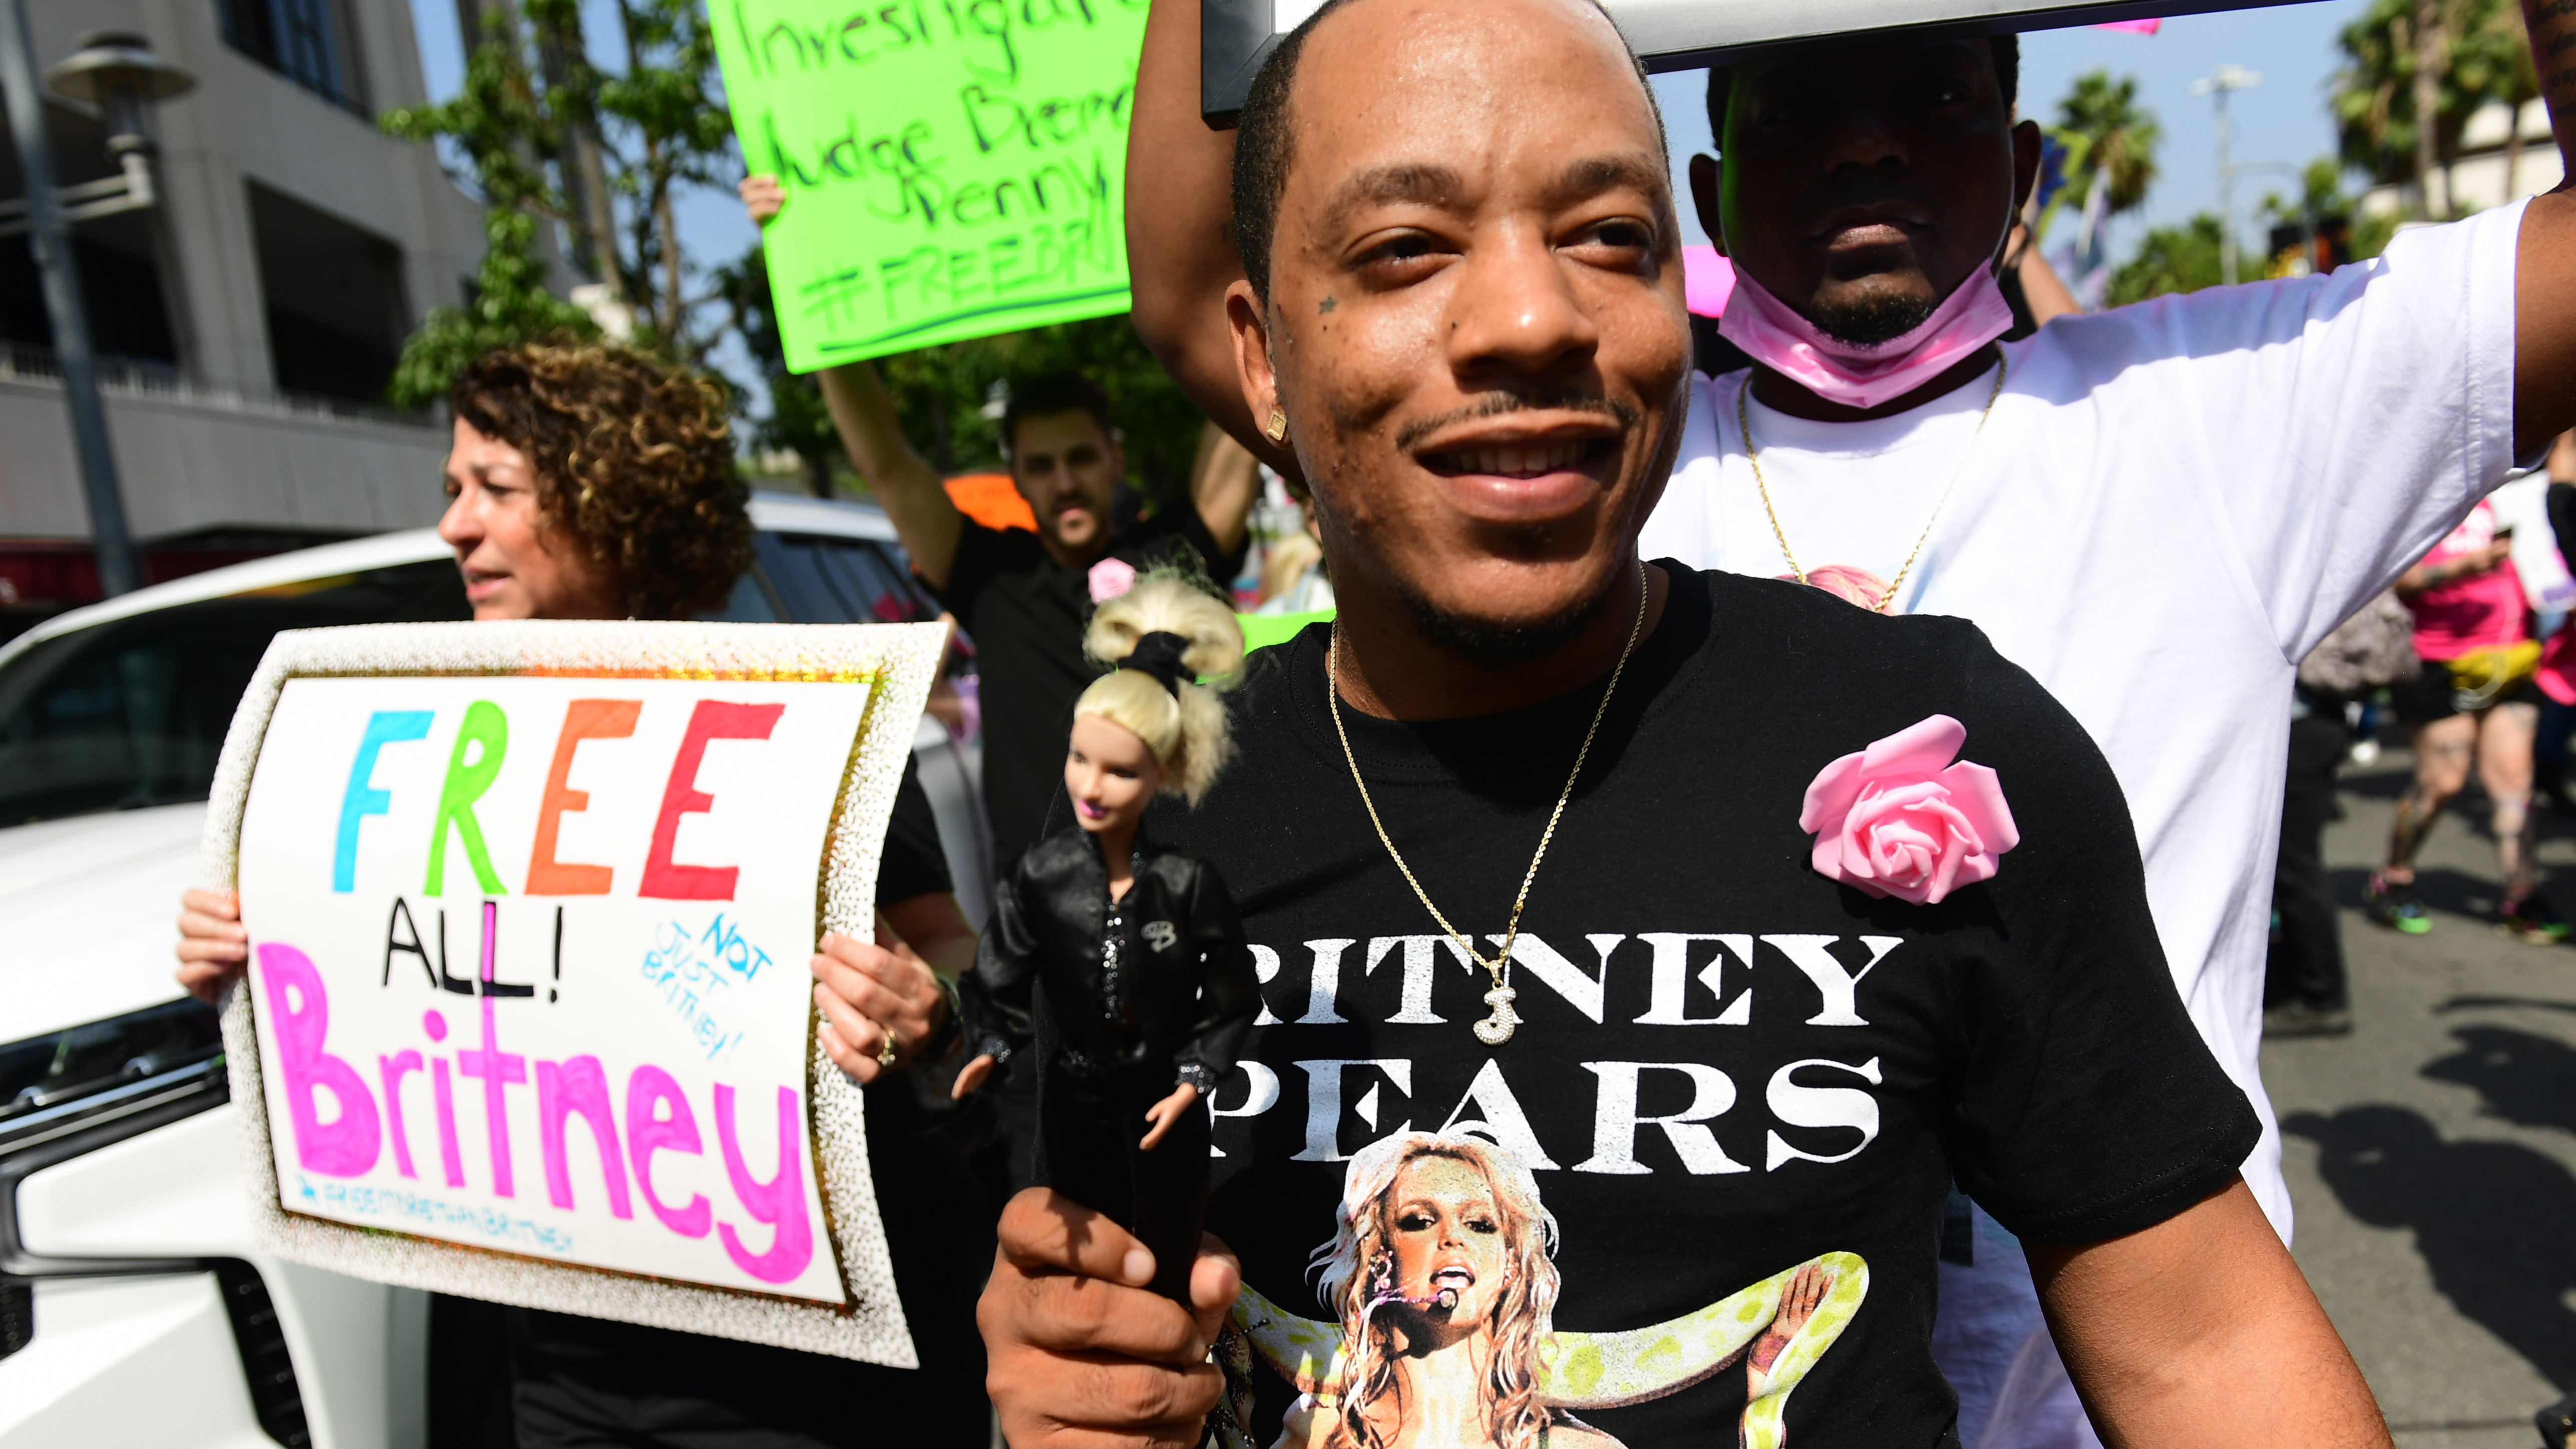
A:
[[[1296,459],[1262,438],[1234,374],[1226,286],[1234,250],[1234,131],[1198,119],[1198,0],[1154,0],[1128,119],[1128,320],[1198,410],[1265,464]]]

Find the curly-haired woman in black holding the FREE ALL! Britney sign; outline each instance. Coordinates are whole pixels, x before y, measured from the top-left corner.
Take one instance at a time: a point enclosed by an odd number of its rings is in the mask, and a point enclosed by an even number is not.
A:
[[[474,619],[688,619],[724,603],[752,565],[750,492],[734,469],[724,392],[701,374],[595,343],[495,348],[448,389],[456,446],[438,536],[456,549]],[[938,825],[909,768],[878,874],[878,910],[909,941],[824,936],[817,980],[835,982],[822,1029],[863,1085],[868,1160],[896,1253],[896,1292],[920,1369],[641,1328],[600,1318],[438,1297],[430,1310],[435,1439],[515,1449],[981,1449],[984,1343],[974,1292],[989,1261],[981,1191],[922,1122],[912,1083],[884,1078],[938,1042],[945,993],[917,923],[963,936]],[[927,846],[925,846],[927,841]],[[920,895],[889,897],[889,882]],[[920,949],[914,949],[920,946]],[[216,1000],[242,975],[240,902],[191,890],[180,985]],[[881,1091],[878,1091],[881,1088]]]

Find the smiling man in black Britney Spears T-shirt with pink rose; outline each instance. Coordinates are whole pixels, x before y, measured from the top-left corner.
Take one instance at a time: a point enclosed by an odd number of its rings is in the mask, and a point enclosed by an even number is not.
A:
[[[1193,1310],[1020,1194],[1005,1434],[1195,1444],[1231,1387],[1226,1444],[1958,1444],[1955,1181],[2107,1441],[2388,1444],[2084,730],[1968,624],[1638,559],[1667,175],[1582,0],[1342,0],[1252,85],[1226,315],[1340,619],[1146,822],[1224,871],[1265,1006]]]

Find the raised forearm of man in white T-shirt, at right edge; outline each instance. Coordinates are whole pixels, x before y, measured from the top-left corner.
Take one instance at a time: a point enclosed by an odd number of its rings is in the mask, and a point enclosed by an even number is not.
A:
[[[2514,258],[2514,454],[2532,456],[2576,425],[2576,0],[2522,0],[2522,21],[2566,173],[2532,196]]]

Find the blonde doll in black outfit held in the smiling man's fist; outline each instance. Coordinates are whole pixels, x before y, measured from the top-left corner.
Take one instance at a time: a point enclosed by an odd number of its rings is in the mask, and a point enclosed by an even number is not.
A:
[[[1154,1289],[1188,1305],[1208,1204],[1198,1098],[1234,1070],[1260,998],[1216,866],[1141,825],[1157,794],[1198,804],[1216,784],[1226,709],[1198,676],[1234,673],[1244,637],[1216,598],[1146,575],[1082,645],[1115,665],[1082,691],[1064,750],[1082,830],[1030,846],[994,897],[963,982],[974,1060],[956,1091],[1041,1042],[1038,1181],[1133,1232]]]

